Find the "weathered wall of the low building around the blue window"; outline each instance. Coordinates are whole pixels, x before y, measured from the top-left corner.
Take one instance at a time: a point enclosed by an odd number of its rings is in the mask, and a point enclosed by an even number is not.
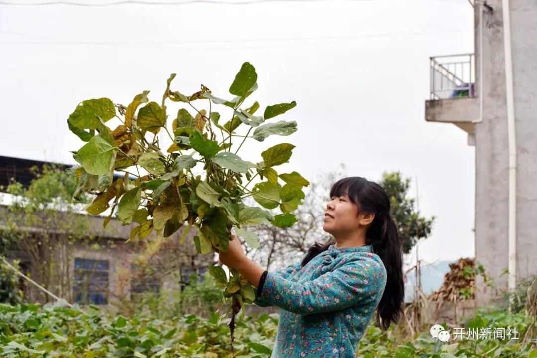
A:
[[[6,218],[10,215],[8,208],[0,206],[0,226],[3,226]],[[103,228],[104,217],[96,215],[80,214],[82,221],[85,222],[82,234],[80,230],[75,228],[77,224],[70,226],[62,226],[61,230],[72,230],[73,235],[79,237],[74,244],[62,245],[57,241],[50,241],[51,248],[47,249],[51,253],[50,264],[46,267],[50,268],[50,285],[48,289],[55,295],[66,299],[68,302],[74,302],[74,293],[72,286],[75,277],[75,258],[84,258],[92,260],[107,260],[108,261],[108,306],[110,308],[120,307],[122,300],[130,300],[131,278],[133,277],[133,261],[138,253],[142,252],[140,245],[135,242],[126,243],[130,236],[131,230],[136,226],[122,225],[116,219],[112,219],[108,223],[106,229]],[[59,216],[58,220],[71,222],[75,219],[71,217]],[[35,236],[35,240],[39,241],[40,235],[43,235],[43,230],[50,234],[51,228],[25,227],[21,219],[18,228],[27,234]],[[195,229],[188,231],[183,243],[180,243],[180,237],[183,235],[184,229],[179,229],[172,236],[163,240],[163,246],[157,251],[156,255],[147,255],[150,258],[148,265],[150,267],[158,267],[156,274],[158,284],[162,290],[180,290],[180,270],[184,268],[200,268],[213,265],[215,263],[214,253],[200,255],[195,249],[193,237],[196,234]],[[63,235],[66,233],[57,233]],[[88,235],[81,237],[80,235]],[[161,236],[162,238],[162,236]],[[155,232],[144,239],[144,242],[155,241],[157,239]],[[147,251],[146,251],[147,252]],[[34,255],[35,256],[35,255]],[[26,272],[31,277],[38,279],[39,272],[37,267],[32,267],[33,258],[31,258],[24,250],[14,246],[8,252],[8,258],[21,259],[21,262],[27,265]],[[153,260],[153,261],[151,261]],[[155,264],[154,264],[155,263]],[[135,267],[135,266],[134,266]],[[163,269],[165,268],[165,269]],[[39,279],[38,279],[39,281]],[[37,288],[28,282],[23,282],[26,287],[27,299],[31,302],[41,302],[43,297]]]

